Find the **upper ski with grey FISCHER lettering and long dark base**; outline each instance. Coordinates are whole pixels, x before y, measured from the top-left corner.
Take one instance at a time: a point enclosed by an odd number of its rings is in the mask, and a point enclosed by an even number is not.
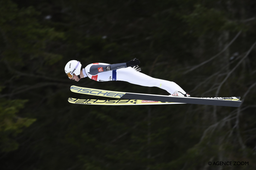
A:
[[[198,105],[215,105],[215,106],[230,106],[239,107],[241,105],[240,97],[213,97],[213,98],[196,98],[196,97],[180,97],[180,96],[164,96],[142,93],[126,93],[109,90],[99,90],[87,87],[71,86],[70,90],[74,93],[88,94],[93,96],[112,97],[118,99],[131,100],[149,100],[161,102],[175,102]]]

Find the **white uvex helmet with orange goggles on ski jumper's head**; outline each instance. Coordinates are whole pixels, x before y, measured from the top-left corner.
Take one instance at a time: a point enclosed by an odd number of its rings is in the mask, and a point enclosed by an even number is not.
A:
[[[66,74],[70,74],[73,77],[73,74],[79,75],[81,70],[82,64],[77,60],[71,60],[67,62],[65,66],[65,72]],[[72,78],[68,75],[69,78]]]

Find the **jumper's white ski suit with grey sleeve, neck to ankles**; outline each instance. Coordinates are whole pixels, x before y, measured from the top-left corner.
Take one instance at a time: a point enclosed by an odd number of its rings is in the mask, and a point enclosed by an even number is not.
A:
[[[106,64],[92,63],[83,68],[84,77],[88,76],[96,81],[126,81],[146,87],[159,87],[173,94],[174,91],[186,92],[176,83],[150,77],[132,67],[127,67],[126,63]]]

